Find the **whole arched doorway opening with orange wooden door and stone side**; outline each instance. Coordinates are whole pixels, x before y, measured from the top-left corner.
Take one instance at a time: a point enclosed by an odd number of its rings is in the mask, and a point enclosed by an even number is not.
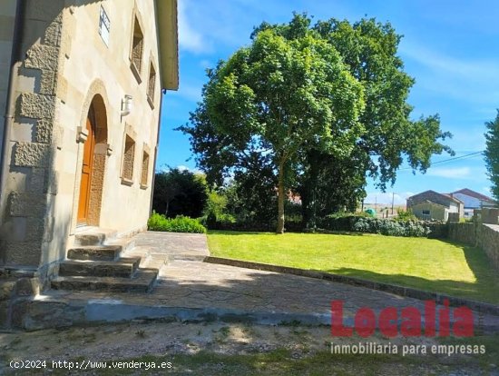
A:
[[[83,144],[77,225],[98,226],[107,156],[107,114],[100,94],[93,96],[86,116],[86,131],[88,135]]]

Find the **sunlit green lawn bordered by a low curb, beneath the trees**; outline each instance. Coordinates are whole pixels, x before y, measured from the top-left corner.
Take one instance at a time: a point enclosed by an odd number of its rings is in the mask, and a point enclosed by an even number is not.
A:
[[[374,234],[208,234],[213,256],[333,272],[499,303],[499,272],[478,248]]]

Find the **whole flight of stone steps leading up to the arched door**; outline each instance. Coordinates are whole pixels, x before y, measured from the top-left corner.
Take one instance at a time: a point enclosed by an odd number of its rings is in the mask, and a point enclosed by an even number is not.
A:
[[[59,275],[51,282],[55,290],[103,292],[151,292],[159,270],[143,267],[142,256],[126,253],[131,239],[115,239],[116,233],[93,229],[78,233]]]

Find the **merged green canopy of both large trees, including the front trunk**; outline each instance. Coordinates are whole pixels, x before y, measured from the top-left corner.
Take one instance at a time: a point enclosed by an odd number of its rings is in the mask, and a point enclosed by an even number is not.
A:
[[[414,80],[396,55],[399,41],[373,19],[311,25],[294,15],[256,27],[249,46],[208,70],[202,102],[180,127],[209,183],[249,172],[273,177],[282,233],[291,188],[304,203],[322,200],[326,212],[353,207],[367,175],[386,189],[404,156],[425,172],[433,153],[450,151],[439,143],[449,134],[437,115],[409,119]]]

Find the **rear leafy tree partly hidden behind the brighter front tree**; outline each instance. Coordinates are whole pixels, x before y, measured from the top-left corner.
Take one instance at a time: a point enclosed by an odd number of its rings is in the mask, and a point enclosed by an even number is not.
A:
[[[307,15],[295,15],[292,24],[308,27]],[[289,34],[289,25],[263,23],[255,30],[272,29]],[[386,23],[362,19],[355,24],[330,19],[319,21],[313,29],[341,54],[343,62],[365,93],[366,108],[360,115],[365,128],[355,143],[352,157],[337,158],[314,151],[303,159],[303,174],[298,192],[302,195],[304,217],[309,220],[341,209],[352,209],[365,197],[367,176],[377,180],[385,191],[396,180],[396,171],[404,161],[423,173],[431,155],[447,151],[440,141],[450,136],[440,130],[437,115],[410,119],[407,104],[414,79],[404,72],[397,55],[401,36]],[[332,188],[334,187],[334,188]]]

